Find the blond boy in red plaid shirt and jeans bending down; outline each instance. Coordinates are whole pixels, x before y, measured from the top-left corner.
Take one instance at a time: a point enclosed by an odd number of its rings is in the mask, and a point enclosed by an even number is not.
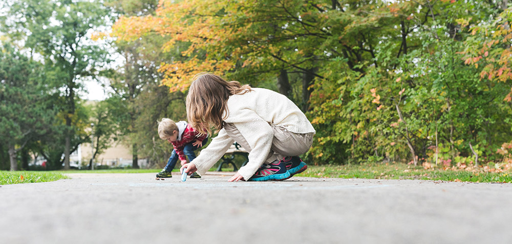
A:
[[[173,144],[174,149],[170,154],[169,161],[165,168],[157,173],[158,178],[170,178],[172,177],[171,171],[174,169],[178,159],[181,161],[181,165],[192,162],[196,158],[195,150],[201,148],[208,141],[208,135],[204,134],[199,136],[194,128],[190,126],[186,121],[179,121],[175,123],[171,119],[163,118],[162,121],[158,122],[158,136],[162,140],[166,140]],[[203,143],[204,142],[204,143]],[[190,175],[190,178],[201,178],[199,174]]]

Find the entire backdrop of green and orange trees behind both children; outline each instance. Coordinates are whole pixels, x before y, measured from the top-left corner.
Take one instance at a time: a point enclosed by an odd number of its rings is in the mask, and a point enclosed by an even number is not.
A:
[[[27,169],[28,153],[69,168],[91,123],[95,154],[121,141],[132,167],[163,167],[157,121],[186,118],[199,72],[288,96],[316,128],[313,164],[510,160],[507,0],[7,0],[0,13],[0,169]],[[83,100],[90,81],[106,99]]]

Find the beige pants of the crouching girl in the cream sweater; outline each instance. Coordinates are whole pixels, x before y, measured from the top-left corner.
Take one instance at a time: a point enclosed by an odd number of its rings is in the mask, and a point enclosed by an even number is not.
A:
[[[272,147],[270,147],[267,160],[265,161],[267,164],[286,156],[299,156],[307,152],[313,144],[314,132],[297,134],[288,131],[280,125],[271,126],[274,130],[274,138],[272,140]],[[249,143],[247,143],[233,123],[224,123],[224,130],[226,130],[226,134],[229,137],[240,144],[246,151],[250,152],[252,150]]]

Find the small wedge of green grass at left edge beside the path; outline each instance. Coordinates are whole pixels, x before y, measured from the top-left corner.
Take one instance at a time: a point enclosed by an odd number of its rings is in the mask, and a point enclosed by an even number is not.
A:
[[[68,176],[61,172],[48,171],[1,171],[0,185],[20,184],[20,183],[36,183],[50,182],[61,179],[69,179]]]

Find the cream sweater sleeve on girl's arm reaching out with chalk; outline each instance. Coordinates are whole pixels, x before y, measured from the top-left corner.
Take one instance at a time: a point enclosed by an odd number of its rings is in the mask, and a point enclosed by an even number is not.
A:
[[[210,144],[201,150],[199,156],[194,159],[193,163],[196,165],[197,173],[204,175],[211,166],[214,166],[219,159],[224,156],[227,149],[233,144],[234,140],[231,139],[224,129],[219,131],[219,135],[213,138]]]

